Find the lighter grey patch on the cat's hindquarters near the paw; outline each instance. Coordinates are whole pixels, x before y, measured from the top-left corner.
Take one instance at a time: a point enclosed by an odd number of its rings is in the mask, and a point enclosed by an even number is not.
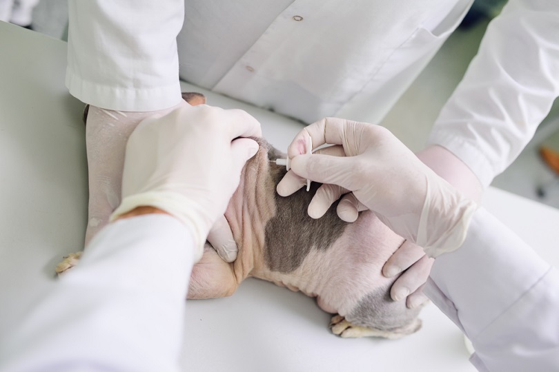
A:
[[[380,287],[367,294],[346,316],[349,322],[384,331],[398,331],[415,322],[421,307],[408,309],[406,301],[394,301],[390,298],[389,285]],[[405,333],[413,333],[417,329],[409,329]]]

